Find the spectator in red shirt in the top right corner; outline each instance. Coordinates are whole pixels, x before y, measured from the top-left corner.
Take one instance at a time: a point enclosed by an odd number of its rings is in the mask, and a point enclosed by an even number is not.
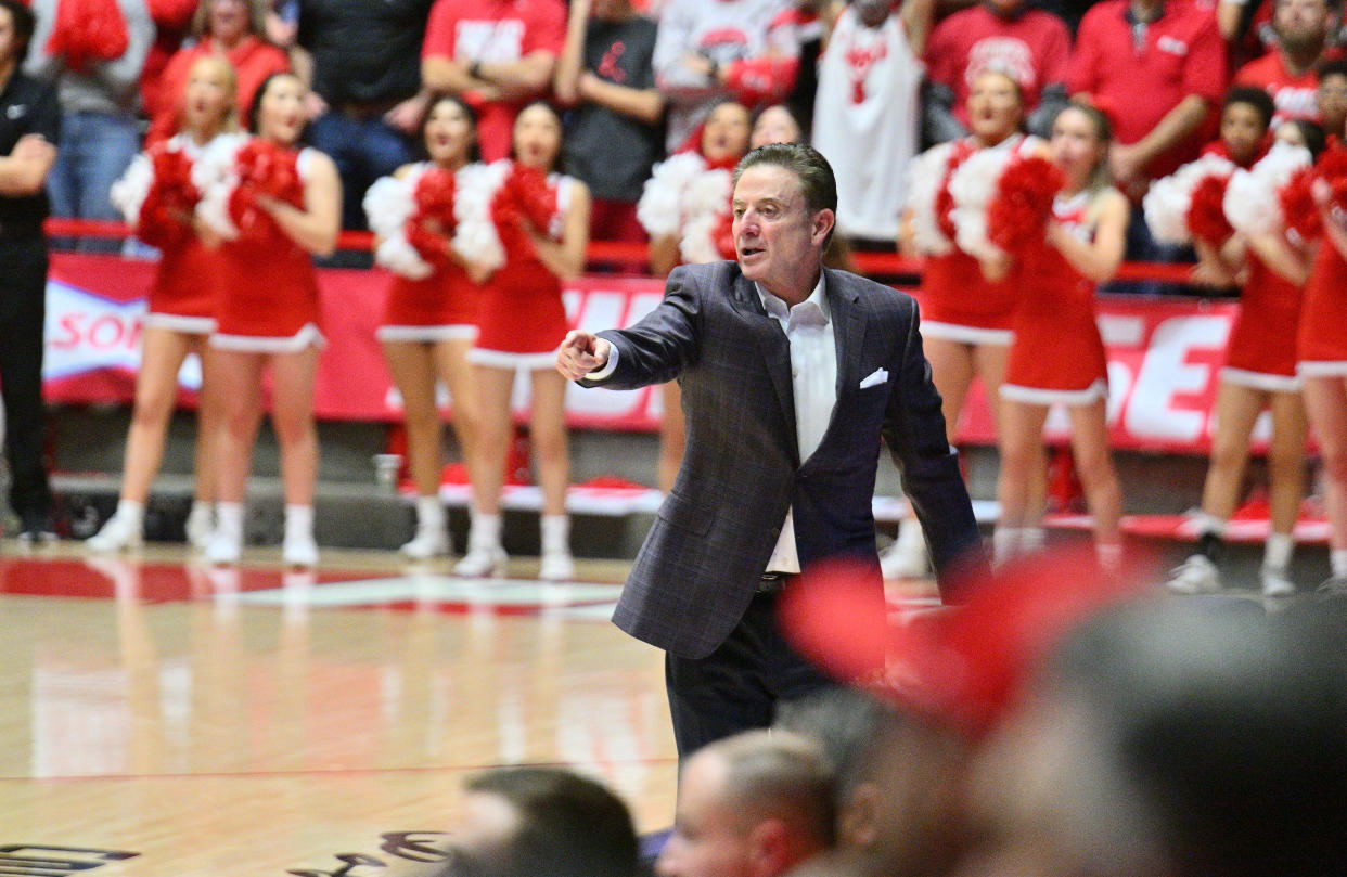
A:
[[[1288,119],[1321,121],[1315,92],[1319,88],[1316,66],[1321,61],[1343,57],[1328,44],[1329,27],[1338,20],[1328,0],[1277,0],[1272,26],[1277,47],[1257,61],[1250,61],[1235,74],[1233,85],[1266,89],[1277,105],[1273,128]]]

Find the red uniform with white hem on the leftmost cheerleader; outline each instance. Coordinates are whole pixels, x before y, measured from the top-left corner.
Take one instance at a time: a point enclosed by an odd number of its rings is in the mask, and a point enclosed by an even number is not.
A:
[[[193,162],[205,151],[205,147],[183,135],[170,137],[164,147],[178,150]],[[189,229],[186,234],[163,241],[159,255],[144,325],[183,334],[209,335],[216,330],[220,251],[203,245],[201,237]]]

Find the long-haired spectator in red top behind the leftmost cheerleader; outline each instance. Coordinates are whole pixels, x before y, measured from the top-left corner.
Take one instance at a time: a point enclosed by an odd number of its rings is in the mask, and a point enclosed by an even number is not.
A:
[[[224,55],[234,67],[238,81],[238,117],[248,125],[248,106],[257,86],[273,73],[290,70],[286,53],[267,42],[267,5],[263,0],[202,0],[191,19],[191,32],[198,36],[195,46],[178,50],[164,67],[159,102],[145,106],[150,131],[145,144],[170,137],[182,117],[182,94],[187,73],[202,55]]]

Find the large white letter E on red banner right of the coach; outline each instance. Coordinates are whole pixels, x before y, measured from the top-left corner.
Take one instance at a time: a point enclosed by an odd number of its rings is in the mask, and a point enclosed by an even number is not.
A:
[[[1192,445],[1206,439],[1207,405],[1183,396],[1206,397],[1216,377],[1215,362],[1230,334],[1227,315],[1173,317],[1150,333],[1150,344],[1127,400],[1125,426],[1140,442]],[[1208,361],[1195,362],[1206,352]]]

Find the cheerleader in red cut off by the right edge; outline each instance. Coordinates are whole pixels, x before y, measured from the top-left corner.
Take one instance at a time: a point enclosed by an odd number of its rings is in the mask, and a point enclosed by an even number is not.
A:
[[[1343,132],[1336,132],[1342,136]],[[1305,284],[1296,335],[1297,375],[1304,383],[1305,411],[1324,465],[1331,577],[1319,586],[1325,597],[1347,597],[1347,148],[1336,145],[1319,162],[1313,198],[1323,238]]]

